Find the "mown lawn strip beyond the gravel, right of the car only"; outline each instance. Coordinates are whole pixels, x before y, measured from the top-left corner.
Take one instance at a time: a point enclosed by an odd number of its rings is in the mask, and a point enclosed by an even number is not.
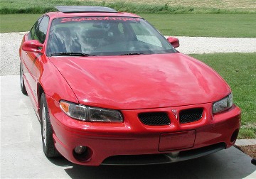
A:
[[[141,14],[164,35],[256,38],[255,14]]]

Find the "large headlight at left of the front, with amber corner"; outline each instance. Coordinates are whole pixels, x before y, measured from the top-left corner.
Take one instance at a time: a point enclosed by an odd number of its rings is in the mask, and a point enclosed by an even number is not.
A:
[[[60,101],[60,109],[68,116],[81,121],[122,122],[122,114],[117,110],[87,107]]]

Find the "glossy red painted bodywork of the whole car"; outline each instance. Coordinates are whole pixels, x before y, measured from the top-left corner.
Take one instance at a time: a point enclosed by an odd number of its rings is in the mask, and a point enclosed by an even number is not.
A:
[[[51,22],[53,18],[85,16],[85,13],[47,15]],[[103,15],[138,17],[130,13],[87,13],[87,16]],[[27,40],[26,34],[22,43]],[[48,58],[45,45],[42,54],[20,49],[25,85],[37,114],[40,87],[46,93],[55,147],[69,161],[98,166],[105,158],[115,155],[183,151],[220,142],[227,147],[233,145],[230,137],[240,127],[240,109],[233,105],[228,111],[212,114],[212,102],[227,96],[231,90],[216,72],[200,61],[181,53]],[[60,99],[119,109],[124,122],[107,124],[71,119],[61,111]],[[174,116],[173,111],[178,114],[182,109],[198,107],[203,108],[199,121],[179,124]],[[137,117],[141,112],[166,112],[171,124],[146,126]],[[87,162],[74,158],[73,149],[78,145],[92,150]]]

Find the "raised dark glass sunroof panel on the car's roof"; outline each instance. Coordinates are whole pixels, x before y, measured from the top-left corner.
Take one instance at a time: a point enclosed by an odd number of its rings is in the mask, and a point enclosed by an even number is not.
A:
[[[102,6],[55,6],[55,9],[63,13],[75,13],[75,12],[110,12],[117,13],[116,10],[109,7]]]

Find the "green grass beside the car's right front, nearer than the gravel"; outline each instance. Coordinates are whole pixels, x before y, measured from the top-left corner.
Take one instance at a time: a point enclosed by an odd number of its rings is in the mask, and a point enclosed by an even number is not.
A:
[[[217,71],[230,85],[234,103],[242,109],[239,138],[256,138],[256,53],[192,55]]]

